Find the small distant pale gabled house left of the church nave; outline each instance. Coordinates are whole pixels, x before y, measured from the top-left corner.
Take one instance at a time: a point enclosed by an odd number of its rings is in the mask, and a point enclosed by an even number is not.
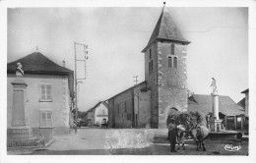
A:
[[[83,120],[88,126],[99,126],[108,122],[108,109],[105,101],[99,101],[96,106],[89,109],[84,115]]]

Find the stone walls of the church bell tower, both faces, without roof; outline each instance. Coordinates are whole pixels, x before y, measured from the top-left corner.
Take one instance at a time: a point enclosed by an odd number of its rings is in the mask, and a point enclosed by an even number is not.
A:
[[[145,77],[151,88],[151,128],[166,128],[170,108],[187,110],[186,45],[174,43],[171,54],[171,43],[158,41],[145,53]],[[177,68],[168,67],[168,57],[177,58]],[[153,70],[149,69],[151,60]]]

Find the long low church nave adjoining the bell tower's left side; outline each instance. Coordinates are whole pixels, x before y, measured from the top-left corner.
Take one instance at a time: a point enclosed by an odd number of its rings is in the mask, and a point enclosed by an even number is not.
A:
[[[132,86],[108,101],[108,126],[110,128],[150,127],[151,90],[143,81]]]

